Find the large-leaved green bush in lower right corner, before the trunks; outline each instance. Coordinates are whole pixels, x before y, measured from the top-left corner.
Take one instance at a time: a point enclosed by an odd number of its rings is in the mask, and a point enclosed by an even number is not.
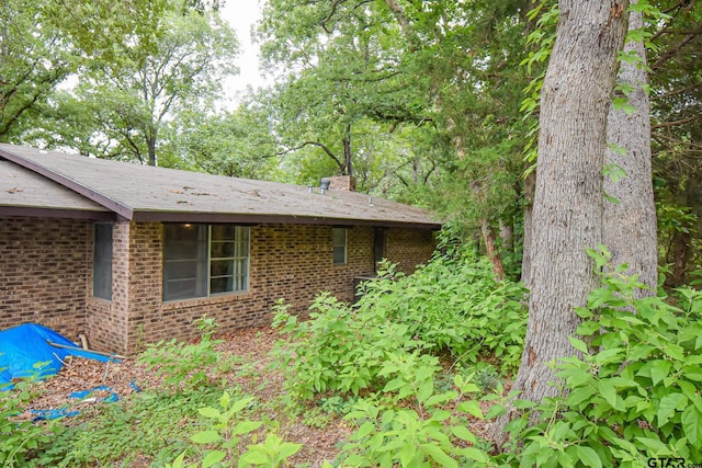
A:
[[[591,254],[599,265],[608,261]],[[682,308],[664,297],[635,298],[644,286],[621,271],[604,274],[577,310],[585,341],[571,343],[584,357],[557,366],[567,396],[545,400],[537,425],[525,429],[528,415],[512,423],[523,431],[523,466],[702,461],[702,294],[679,289]]]

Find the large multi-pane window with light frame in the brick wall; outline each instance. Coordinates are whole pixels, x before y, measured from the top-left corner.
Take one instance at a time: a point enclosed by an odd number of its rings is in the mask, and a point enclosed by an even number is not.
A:
[[[210,297],[248,288],[248,227],[163,226],[163,300]]]

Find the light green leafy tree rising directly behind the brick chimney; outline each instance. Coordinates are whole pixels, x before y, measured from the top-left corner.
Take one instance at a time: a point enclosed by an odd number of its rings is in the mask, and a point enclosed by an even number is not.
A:
[[[353,174],[369,121],[396,127],[427,116],[408,85],[403,38],[382,4],[274,0],[263,15],[268,66],[292,70],[275,90],[288,152],[315,148],[337,172]]]

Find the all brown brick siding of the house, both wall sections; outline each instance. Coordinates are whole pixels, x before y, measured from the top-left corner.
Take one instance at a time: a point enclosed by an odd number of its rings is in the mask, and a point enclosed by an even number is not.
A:
[[[197,336],[193,321],[203,313],[227,331],[269,323],[279,298],[303,315],[321,290],[350,301],[353,278],[374,270],[371,227],[348,229],[347,264],[335,265],[331,226],[259,225],[251,227],[248,292],[163,303],[162,225],[115,222],[113,239],[109,301],[92,297],[90,222],[0,219],[1,328],[36,321],[69,338],[87,332],[101,351],[134,353],[146,343]],[[432,251],[430,231],[386,230],[386,258],[403,271],[412,272]],[[27,259],[35,261],[27,266]],[[42,294],[31,288],[38,272]]]

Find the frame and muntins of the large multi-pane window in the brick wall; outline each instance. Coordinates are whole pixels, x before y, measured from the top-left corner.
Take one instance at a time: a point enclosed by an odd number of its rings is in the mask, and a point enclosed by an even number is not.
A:
[[[196,299],[207,299],[219,296],[229,296],[236,294],[248,293],[250,289],[250,270],[251,270],[251,227],[247,225],[234,225],[234,224],[181,224],[181,222],[169,222],[165,224],[165,226],[179,226],[179,227],[197,227],[199,229],[204,227],[206,239],[203,240],[200,238],[200,233],[196,235],[196,239],[193,242],[193,252],[195,256],[191,262],[194,265],[194,276],[192,277],[183,277],[183,278],[167,278],[168,265],[177,264],[177,263],[188,263],[189,259],[167,259],[166,250],[167,239],[166,232],[163,232],[163,259],[161,266],[161,299],[163,303],[174,303],[180,300],[196,300]],[[224,228],[234,228],[233,238],[226,239],[214,239],[213,240],[213,228],[224,227]],[[200,249],[200,244],[204,243],[203,258],[197,255],[196,250]],[[227,243],[233,244],[231,254],[222,254],[220,256],[214,256],[213,246],[226,246]],[[223,248],[223,251],[226,250],[226,247]],[[228,269],[227,274],[213,274],[213,262],[231,262],[231,267]],[[222,278],[230,278],[230,282],[227,286],[226,290],[219,290],[213,293],[213,279],[222,279]],[[237,279],[238,278],[238,279]],[[168,285],[174,282],[192,279],[194,282],[194,292],[192,295],[186,296],[178,296],[173,297],[172,292],[169,290]],[[204,284],[201,284],[204,283]],[[200,289],[203,290],[202,294],[197,293],[200,284]],[[167,294],[170,293],[170,294]]]

